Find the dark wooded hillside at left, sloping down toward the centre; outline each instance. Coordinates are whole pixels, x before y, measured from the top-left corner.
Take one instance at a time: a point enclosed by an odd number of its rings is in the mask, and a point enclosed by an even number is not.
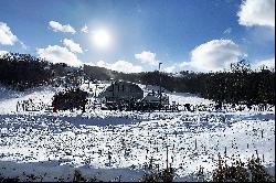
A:
[[[24,90],[40,85],[56,84],[55,78],[66,76],[71,83],[79,75],[79,68],[64,63],[53,64],[30,54],[9,53],[0,56],[0,84]]]

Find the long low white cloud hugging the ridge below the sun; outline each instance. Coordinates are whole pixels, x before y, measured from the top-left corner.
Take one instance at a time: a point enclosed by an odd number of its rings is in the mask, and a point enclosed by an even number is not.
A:
[[[127,61],[117,61],[113,64],[106,63],[104,61],[98,61],[96,63],[96,66],[99,67],[105,67],[108,69],[117,71],[117,72],[123,72],[123,73],[140,73],[142,72],[142,67],[139,65],[134,65],[130,62]]]

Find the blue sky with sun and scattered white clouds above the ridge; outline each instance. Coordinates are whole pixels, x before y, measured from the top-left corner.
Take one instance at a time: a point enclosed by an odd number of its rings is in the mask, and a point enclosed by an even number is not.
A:
[[[1,0],[7,52],[125,73],[275,67],[275,0]]]

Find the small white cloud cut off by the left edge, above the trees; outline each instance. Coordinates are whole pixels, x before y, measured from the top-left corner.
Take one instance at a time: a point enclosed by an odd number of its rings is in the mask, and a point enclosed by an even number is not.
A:
[[[13,45],[18,40],[4,22],[0,22],[0,44]]]

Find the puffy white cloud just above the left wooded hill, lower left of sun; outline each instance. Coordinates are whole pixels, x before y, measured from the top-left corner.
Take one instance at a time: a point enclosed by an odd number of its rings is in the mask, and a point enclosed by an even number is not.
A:
[[[61,47],[59,45],[49,45],[45,49],[38,49],[36,53],[40,57],[45,58],[54,64],[65,63],[71,66],[79,66],[82,62],[77,56],[70,52],[66,47]]]

